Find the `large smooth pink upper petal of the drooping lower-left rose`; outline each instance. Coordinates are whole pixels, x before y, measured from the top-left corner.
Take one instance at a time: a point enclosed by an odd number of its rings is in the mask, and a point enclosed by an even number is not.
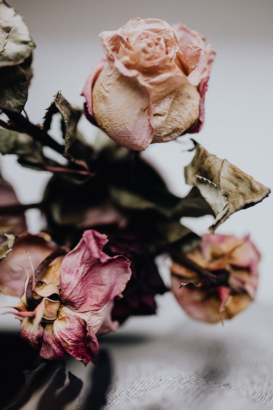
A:
[[[74,311],[100,309],[124,290],[131,277],[130,261],[124,256],[106,255],[102,251],[106,242],[106,235],[87,230],[63,258],[62,300]]]

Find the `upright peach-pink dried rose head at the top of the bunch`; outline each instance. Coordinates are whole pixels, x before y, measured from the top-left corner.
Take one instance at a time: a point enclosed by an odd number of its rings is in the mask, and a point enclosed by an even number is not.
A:
[[[106,57],[83,88],[86,116],[118,144],[145,150],[198,132],[214,60],[205,39],[185,25],[133,18],[100,34]]]

